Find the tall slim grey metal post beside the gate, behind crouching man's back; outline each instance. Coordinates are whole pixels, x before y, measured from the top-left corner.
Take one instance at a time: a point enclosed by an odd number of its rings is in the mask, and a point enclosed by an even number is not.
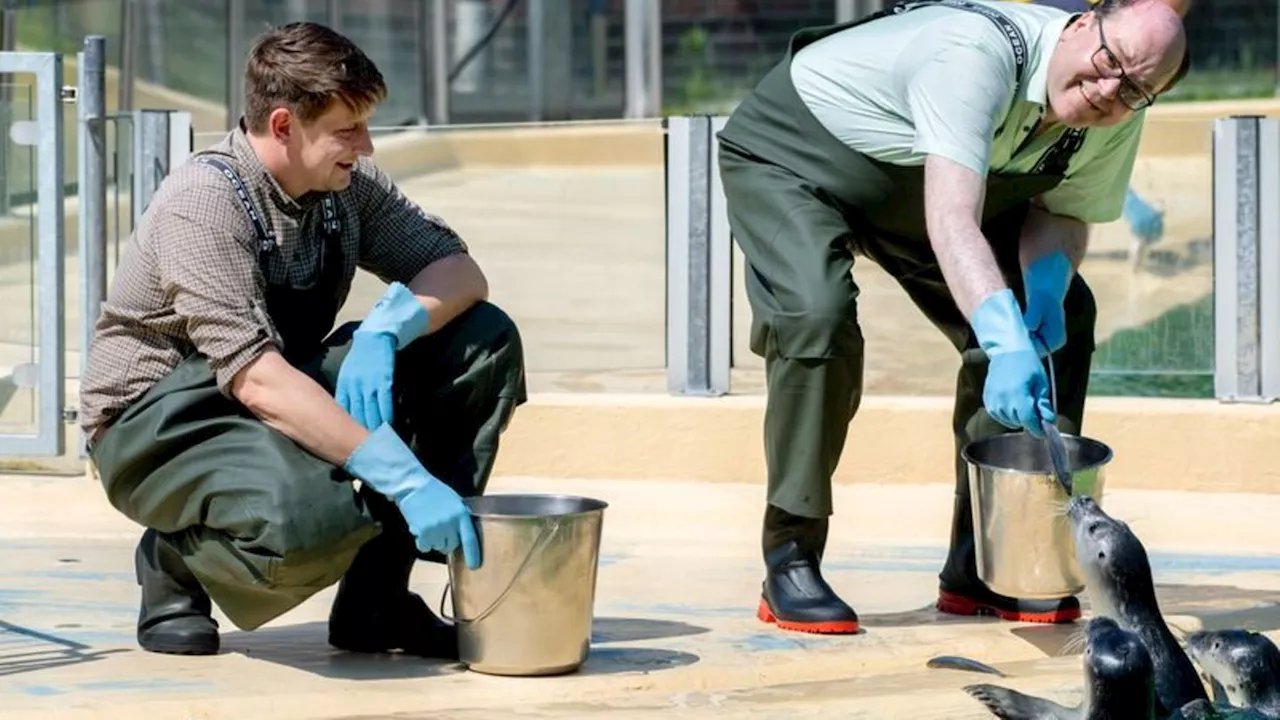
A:
[[[81,377],[106,299],[106,38],[91,35],[79,54],[77,196],[79,200]]]

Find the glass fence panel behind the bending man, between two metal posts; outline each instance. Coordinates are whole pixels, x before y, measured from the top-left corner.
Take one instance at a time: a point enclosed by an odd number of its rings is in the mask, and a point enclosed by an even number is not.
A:
[[[1091,393],[1212,397],[1212,119],[1147,122],[1130,188],[1137,209],[1092,229],[1082,274],[1098,306]],[[1142,213],[1160,218],[1147,233]],[[735,246],[733,391],[764,392]],[[868,395],[955,392],[959,356],[874,263],[854,265]]]

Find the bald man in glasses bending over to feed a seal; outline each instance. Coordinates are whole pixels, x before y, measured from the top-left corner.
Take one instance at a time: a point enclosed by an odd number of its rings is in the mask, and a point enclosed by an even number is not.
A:
[[[957,451],[997,432],[1039,434],[1042,420],[1078,432],[1096,316],[1075,273],[1088,224],[1120,217],[1143,109],[1185,72],[1178,14],[1156,0],[1119,5],[1069,15],[924,0],[804,29],[721,132],[768,380],[760,619],[858,629],[819,570],[831,475],[861,397],[855,258],[896,278],[960,354]],[[955,471],[938,607],[1078,618],[1074,597],[1001,597],[978,580],[959,456]]]

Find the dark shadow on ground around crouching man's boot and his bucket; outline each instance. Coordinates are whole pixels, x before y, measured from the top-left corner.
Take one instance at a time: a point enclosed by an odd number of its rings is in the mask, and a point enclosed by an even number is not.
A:
[[[692,665],[700,659],[690,652],[614,643],[659,641],[707,632],[707,628],[689,623],[596,618],[591,633],[593,647],[579,674],[654,673]],[[466,671],[463,665],[447,660],[398,652],[365,655],[335,650],[329,646],[328,634],[328,624],[324,621],[262,628],[250,633],[225,633],[223,652],[343,680],[433,678]]]

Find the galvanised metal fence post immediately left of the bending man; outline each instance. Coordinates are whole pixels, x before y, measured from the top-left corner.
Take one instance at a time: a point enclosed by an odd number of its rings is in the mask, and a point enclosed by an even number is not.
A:
[[[723,118],[667,118],[667,388],[730,389],[732,254],[714,132]]]

